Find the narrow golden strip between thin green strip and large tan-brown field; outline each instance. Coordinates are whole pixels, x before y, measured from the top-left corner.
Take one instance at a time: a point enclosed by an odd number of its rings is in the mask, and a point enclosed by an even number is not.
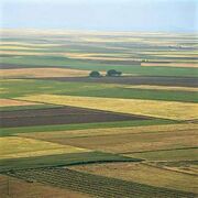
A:
[[[162,125],[145,125],[145,127],[128,127],[128,128],[110,128],[110,129],[86,129],[73,131],[51,131],[46,133],[26,132],[18,133],[16,135],[36,139],[57,139],[57,138],[84,138],[84,136],[101,136],[116,134],[135,134],[135,133],[157,133],[157,132],[174,132],[198,130],[198,124],[162,124]]]

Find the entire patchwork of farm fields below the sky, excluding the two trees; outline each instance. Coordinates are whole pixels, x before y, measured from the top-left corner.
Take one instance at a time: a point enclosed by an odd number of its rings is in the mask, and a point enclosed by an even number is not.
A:
[[[197,197],[196,34],[1,33],[0,197]]]

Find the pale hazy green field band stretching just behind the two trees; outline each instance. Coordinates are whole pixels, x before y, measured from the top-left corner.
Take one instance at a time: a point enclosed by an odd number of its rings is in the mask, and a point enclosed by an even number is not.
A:
[[[182,67],[141,67],[134,65],[113,65],[86,61],[69,59],[63,56],[21,56],[20,58],[3,57],[2,63],[34,65],[34,66],[64,66],[85,70],[109,70],[118,69],[127,74],[146,75],[146,76],[187,76],[197,77],[197,68]]]

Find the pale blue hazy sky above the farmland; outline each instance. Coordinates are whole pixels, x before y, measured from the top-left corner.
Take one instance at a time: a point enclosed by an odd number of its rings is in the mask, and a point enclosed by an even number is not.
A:
[[[0,0],[2,28],[198,31],[198,0]]]

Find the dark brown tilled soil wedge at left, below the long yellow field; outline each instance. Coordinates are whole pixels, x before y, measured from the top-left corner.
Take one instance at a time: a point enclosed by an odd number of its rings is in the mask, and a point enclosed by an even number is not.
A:
[[[151,118],[75,107],[0,111],[1,128],[113,122],[144,119]]]

